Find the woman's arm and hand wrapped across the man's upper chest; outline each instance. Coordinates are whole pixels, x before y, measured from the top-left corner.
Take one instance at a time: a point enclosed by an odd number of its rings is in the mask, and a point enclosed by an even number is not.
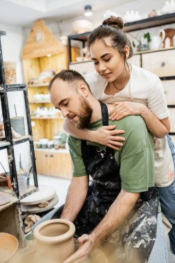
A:
[[[124,134],[125,131],[115,128],[116,125],[103,126],[96,131],[77,129],[71,120],[66,119],[64,121],[64,129],[71,136],[81,140],[90,140],[91,142],[100,143],[119,150],[119,147],[123,145],[120,141],[125,141],[125,138],[118,135]]]

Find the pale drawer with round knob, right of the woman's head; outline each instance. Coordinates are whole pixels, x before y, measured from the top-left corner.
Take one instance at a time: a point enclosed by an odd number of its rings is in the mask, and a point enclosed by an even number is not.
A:
[[[158,75],[168,77],[175,75],[175,49],[142,54],[142,67]]]

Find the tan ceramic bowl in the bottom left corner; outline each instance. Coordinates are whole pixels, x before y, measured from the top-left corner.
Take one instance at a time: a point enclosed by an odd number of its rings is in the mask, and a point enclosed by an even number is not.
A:
[[[0,233],[0,255],[1,263],[7,262],[15,255],[19,242],[17,237],[8,233]]]

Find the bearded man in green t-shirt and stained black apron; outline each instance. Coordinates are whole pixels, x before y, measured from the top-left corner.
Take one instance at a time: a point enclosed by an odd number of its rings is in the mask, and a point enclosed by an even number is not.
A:
[[[53,218],[74,222],[80,248],[64,263],[82,262],[93,248],[107,243],[112,244],[113,262],[136,262],[134,255],[140,263],[147,262],[157,233],[158,192],[153,140],[144,120],[140,116],[109,120],[112,105],[96,100],[76,71],[61,71],[49,89],[55,108],[79,129],[116,125],[125,131],[120,151],[68,138],[73,178],[64,208]]]

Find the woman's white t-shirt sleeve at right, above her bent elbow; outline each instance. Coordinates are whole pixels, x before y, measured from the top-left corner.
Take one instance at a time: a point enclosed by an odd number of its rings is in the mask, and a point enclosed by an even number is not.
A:
[[[157,78],[157,82],[154,85],[154,89],[151,89],[147,102],[147,107],[159,120],[169,117],[169,111],[167,109],[167,102],[165,98],[165,91],[159,78]]]

